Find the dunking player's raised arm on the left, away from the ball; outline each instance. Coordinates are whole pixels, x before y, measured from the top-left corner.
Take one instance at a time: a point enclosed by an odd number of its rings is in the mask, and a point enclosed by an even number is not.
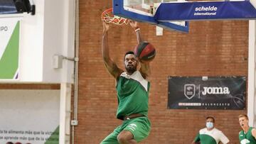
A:
[[[121,74],[123,71],[117,67],[117,64],[113,62],[110,58],[110,49],[108,46],[108,39],[107,39],[107,32],[110,29],[110,26],[105,23],[105,21],[102,22],[103,25],[103,33],[102,33],[102,58],[104,61],[104,65],[110,74],[117,79],[119,77],[119,74]]]

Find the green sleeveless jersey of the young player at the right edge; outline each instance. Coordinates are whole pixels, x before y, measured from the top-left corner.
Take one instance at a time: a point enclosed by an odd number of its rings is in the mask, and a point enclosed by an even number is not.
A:
[[[249,128],[247,133],[245,133],[244,131],[240,131],[239,140],[241,144],[256,144],[256,140],[252,136],[252,127]]]

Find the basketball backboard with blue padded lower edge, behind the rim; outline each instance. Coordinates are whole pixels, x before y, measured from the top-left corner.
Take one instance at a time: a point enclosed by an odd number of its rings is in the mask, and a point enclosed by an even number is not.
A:
[[[134,21],[154,24],[161,28],[188,33],[187,21],[156,21],[154,9],[163,2],[177,0],[113,0],[113,13],[116,16],[129,18]]]

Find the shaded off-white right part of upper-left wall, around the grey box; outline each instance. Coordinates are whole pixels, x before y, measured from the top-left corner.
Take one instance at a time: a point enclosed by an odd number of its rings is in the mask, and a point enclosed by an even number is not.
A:
[[[63,68],[50,67],[55,54],[74,57],[75,8],[69,0],[46,0],[44,11],[43,82],[73,82],[74,62],[63,60]]]

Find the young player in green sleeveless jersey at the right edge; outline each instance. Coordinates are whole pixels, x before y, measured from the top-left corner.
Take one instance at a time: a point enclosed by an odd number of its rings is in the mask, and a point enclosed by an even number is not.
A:
[[[242,131],[239,132],[239,140],[241,144],[256,144],[256,128],[248,125],[249,119],[245,114],[238,116]]]

